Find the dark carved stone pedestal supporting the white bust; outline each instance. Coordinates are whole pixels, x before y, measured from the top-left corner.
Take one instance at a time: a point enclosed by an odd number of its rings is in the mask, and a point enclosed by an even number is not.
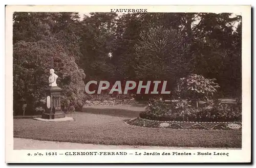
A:
[[[48,87],[46,91],[46,111],[42,114],[42,119],[59,119],[65,118],[65,113],[60,108],[60,93],[59,87]]]

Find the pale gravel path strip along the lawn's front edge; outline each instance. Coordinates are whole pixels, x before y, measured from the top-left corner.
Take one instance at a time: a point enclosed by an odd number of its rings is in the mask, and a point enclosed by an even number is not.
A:
[[[65,142],[51,142],[51,141],[38,141],[34,139],[14,138],[14,150],[57,150],[57,149],[160,149],[160,150],[177,150],[177,149],[202,149],[193,147],[156,147],[156,146],[128,146],[128,145],[94,145],[94,144],[78,144],[78,143],[65,143]],[[203,148],[203,149],[223,149],[223,148]],[[225,148],[236,149],[236,148]]]

